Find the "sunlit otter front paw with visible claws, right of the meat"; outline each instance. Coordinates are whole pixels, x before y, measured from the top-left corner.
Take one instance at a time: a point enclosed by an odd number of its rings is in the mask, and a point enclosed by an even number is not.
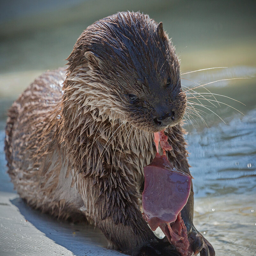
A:
[[[187,225],[187,231],[188,240],[195,255],[200,252],[200,256],[215,256],[212,244],[210,244],[193,225]]]

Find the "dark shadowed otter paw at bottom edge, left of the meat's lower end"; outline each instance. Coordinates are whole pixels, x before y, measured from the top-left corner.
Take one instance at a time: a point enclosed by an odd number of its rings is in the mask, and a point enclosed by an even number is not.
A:
[[[159,239],[157,242],[151,242],[144,245],[138,256],[177,256],[180,255],[175,247],[167,239]]]

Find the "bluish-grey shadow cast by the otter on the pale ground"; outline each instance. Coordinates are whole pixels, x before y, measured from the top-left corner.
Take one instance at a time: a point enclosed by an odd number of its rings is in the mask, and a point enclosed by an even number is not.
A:
[[[52,244],[59,244],[76,256],[95,255],[124,255],[106,248],[107,240],[98,228],[89,224],[73,224],[59,221],[56,218],[31,209],[19,197],[10,200],[26,222],[31,223],[45,237],[52,240]],[[44,236],[40,236],[42,241]],[[66,254],[66,253],[65,253]]]

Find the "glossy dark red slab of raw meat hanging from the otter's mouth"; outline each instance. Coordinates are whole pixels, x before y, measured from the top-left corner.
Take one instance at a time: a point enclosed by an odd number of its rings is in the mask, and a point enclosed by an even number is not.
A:
[[[164,131],[155,135],[156,157],[144,167],[145,185],[142,193],[143,217],[152,230],[160,227],[182,256],[192,255],[187,228],[180,211],[186,205],[191,188],[190,175],[176,169],[165,155],[172,146]],[[158,153],[158,143],[164,155]]]

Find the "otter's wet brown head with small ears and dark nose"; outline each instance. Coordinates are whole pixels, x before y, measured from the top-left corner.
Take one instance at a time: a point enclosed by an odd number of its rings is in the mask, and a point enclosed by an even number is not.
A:
[[[83,107],[148,132],[182,119],[179,61],[162,23],[119,12],[89,26],[68,58],[69,89]],[[72,90],[71,90],[72,91]]]

